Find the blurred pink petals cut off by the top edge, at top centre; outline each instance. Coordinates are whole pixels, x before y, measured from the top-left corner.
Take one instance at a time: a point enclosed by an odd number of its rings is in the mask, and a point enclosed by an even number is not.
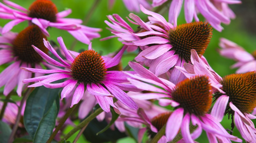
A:
[[[148,9],[152,9],[152,6],[149,4],[149,1],[150,0],[123,0],[123,3],[129,11],[139,12],[139,5],[142,5]],[[115,0],[109,0],[109,7],[112,8],[114,3]]]

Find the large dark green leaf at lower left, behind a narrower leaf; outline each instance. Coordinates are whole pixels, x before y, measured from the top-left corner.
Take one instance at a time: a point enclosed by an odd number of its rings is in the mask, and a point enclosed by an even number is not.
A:
[[[24,111],[24,126],[32,138],[34,138],[41,119],[48,113],[53,102],[57,100],[58,91],[58,88],[49,89],[41,86],[35,88],[28,97]]]

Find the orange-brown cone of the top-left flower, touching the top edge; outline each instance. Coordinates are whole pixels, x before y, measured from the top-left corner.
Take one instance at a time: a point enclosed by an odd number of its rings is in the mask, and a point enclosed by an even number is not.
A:
[[[29,17],[56,22],[58,10],[50,0],[36,0],[29,7]]]

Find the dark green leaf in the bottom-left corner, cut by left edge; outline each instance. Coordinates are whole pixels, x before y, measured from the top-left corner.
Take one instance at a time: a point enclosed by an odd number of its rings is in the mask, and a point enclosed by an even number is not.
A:
[[[5,122],[0,121],[0,143],[6,143],[11,135],[11,128]]]

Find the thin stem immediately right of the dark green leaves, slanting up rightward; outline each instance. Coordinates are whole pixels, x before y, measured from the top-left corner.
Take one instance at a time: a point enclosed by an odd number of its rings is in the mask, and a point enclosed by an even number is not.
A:
[[[53,138],[55,137],[55,135],[57,135],[58,131],[62,128],[62,126],[64,125],[64,123],[66,122],[66,120],[69,118],[69,116],[71,115],[71,113],[74,111],[75,107],[77,106],[77,104],[75,104],[72,108],[69,108],[68,111],[66,112],[66,114],[62,117],[62,119],[60,120],[58,126],[55,128],[53,134],[49,137],[49,139],[47,140],[46,143],[51,143],[53,141]]]

